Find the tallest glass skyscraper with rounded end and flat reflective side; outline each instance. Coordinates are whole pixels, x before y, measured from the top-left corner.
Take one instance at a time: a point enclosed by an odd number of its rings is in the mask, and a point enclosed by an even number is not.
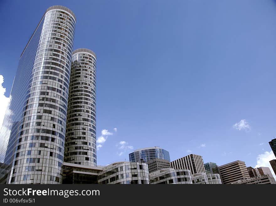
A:
[[[61,183],[75,25],[70,9],[48,8],[21,54],[0,135],[1,183]]]

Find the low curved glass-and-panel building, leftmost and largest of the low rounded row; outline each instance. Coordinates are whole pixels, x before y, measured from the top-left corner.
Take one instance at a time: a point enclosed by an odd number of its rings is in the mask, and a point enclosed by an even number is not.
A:
[[[142,162],[116,162],[98,173],[98,184],[149,184],[148,165]]]

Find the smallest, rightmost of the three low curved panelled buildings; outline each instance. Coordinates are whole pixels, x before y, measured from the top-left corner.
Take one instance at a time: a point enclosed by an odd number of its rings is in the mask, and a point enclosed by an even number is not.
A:
[[[193,184],[222,184],[219,174],[196,173],[192,175]]]

